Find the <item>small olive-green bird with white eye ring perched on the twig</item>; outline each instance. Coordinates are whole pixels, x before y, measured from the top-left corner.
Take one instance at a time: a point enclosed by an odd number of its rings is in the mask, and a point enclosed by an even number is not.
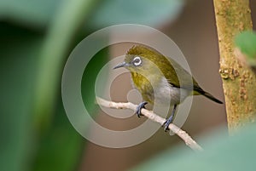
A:
[[[166,123],[163,125],[165,131],[169,129],[168,127],[172,123],[177,105],[190,95],[204,95],[218,104],[223,104],[212,94],[204,91],[196,83],[195,78],[175,60],[166,58],[153,48],[143,45],[131,47],[125,54],[125,61],[114,66],[113,69],[120,67],[125,67],[131,72],[132,84],[142,94],[143,102],[137,106],[137,117],[141,117],[141,110],[148,103],[151,105],[154,105],[155,101],[164,103],[164,100],[170,99],[171,96],[170,106],[173,106],[173,109],[171,116],[166,119]]]

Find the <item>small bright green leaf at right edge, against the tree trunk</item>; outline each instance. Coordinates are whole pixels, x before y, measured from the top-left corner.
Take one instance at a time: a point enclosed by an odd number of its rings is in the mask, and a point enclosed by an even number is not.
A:
[[[256,66],[256,33],[254,31],[243,31],[236,36],[236,47],[246,54],[247,63]]]

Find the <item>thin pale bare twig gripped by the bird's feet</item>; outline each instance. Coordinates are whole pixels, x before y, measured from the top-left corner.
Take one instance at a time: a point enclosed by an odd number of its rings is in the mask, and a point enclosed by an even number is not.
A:
[[[103,100],[102,98],[96,97],[96,101],[99,105],[102,105],[104,107],[108,108],[115,108],[115,109],[131,109],[132,111],[135,111],[137,108],[137,105],[132,104],[131,102],[127,103],[116,103],[113,101]],[[150,120],[160,123],[163,125],[166,122],[166,119],[163,117],[159,117],[158,115],[154,114],[152,111],[148,111],[146,109],[142,109],[143,116],[148,117]],[[198,145],[195,140],[193,140],[189,134],[187,134],[185,131],[183,131],[181,128],[178,128],[175,124],[171,123],[169,125],[169,129],[177,134],[186,145],[188,145],[192,150],[194,151],[202,151],[200,145]]]

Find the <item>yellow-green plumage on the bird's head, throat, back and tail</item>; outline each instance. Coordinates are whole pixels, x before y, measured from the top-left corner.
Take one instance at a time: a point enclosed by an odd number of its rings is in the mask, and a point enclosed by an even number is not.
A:
[[[148,98],[150,94],[154,94],[154,91],[148,79],[139,73],[143,73],[143,75],[147,77],[154,77],[152,80],[154,80],[156,83],[160,83],[161,79],[158,74],[154,74],[154,71],[152,71],[152,68],[154,67],[152,67],[150,62],[148,62],[151,61],[152,64],[160,69],[166,78],[166,81],[170,84],[171,88],[183,88],[186,90],[191,90],[189,95],[202,94],[217,103],[222,103],[221,101],[215,99],[211,94],[205,92],[198,85],[198,83],[196,83],[194,77],[192,77],[188,71],[185,71],[182,66],[177,64],[175,60],[170,58],[167,59],[163,54],[160,54],[154,49],[146,48],[143,46],[134,46],[130,48],[126,53],[125,63],[131,63],[132,59],[134,59],[136,56],[139,56],[142,58],[142,60],[144,60],[141,66],[131,65],[127,66],[126,68],[131,71],[131,79],[134,83],[134,86],[143,95],[143,100],[154,104],[154,98]],[[179,77],[177,76],[177,73]]]

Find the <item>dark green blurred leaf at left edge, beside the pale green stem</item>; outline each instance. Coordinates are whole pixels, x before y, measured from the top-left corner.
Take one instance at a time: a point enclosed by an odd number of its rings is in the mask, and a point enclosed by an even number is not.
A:
[[[0,26],[0,166],[29,169],[32,144],[32,93],[43,35],[2,23]]]

